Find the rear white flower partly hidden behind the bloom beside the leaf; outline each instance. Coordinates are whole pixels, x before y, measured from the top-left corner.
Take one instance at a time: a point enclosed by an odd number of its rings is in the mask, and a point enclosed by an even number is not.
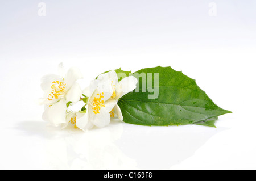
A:
[[[109,86],[113,90],[110,100],[118,100],[122,98],[123,95],[133,91],[136,88],[136,84],[138,82],[137,78],[133,76],[125,77],[120,82],[118,82],[118,76],[114,70],[99,75],[98,80],[109,83]],[[117,102],[115,103],[113,110],[110,112],[110,115],[111,117],[117,115],[119,120],[123,120],[122,112],[117,105]]]

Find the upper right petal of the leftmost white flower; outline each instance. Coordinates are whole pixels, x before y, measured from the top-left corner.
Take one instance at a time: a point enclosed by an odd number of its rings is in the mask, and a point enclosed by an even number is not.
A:
[[[64,81],[67,84],[68,89],[75,83],[78,79],[82,78],[82,73],[78,68],[70,68],[65,75]]]

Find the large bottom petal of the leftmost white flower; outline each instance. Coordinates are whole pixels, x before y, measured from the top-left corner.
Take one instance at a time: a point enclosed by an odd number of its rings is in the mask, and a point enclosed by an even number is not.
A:
[[[43,119],[49,121],[55,126],[66,122],[66,102],[64,99],[60,99],[59,102],[52,106],[47,106],[43,113]]]

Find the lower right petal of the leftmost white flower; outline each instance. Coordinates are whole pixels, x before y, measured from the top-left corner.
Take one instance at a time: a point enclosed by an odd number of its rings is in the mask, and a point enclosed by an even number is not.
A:
[[[66,94],[66,101],[72,102],[72,105],[76,104],[82,95],[82,90],[81,87],[78,83],[74,83],[73,86],[68,90],[67,94]]]

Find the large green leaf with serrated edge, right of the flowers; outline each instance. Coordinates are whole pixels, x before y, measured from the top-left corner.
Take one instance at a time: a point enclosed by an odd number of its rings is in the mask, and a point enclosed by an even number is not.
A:
[[[218,116],[232,113],[214,104],[194,79],[171,67],[142,69],[133,75],[137,90],[118,100],[126,123],[215,127]]]

